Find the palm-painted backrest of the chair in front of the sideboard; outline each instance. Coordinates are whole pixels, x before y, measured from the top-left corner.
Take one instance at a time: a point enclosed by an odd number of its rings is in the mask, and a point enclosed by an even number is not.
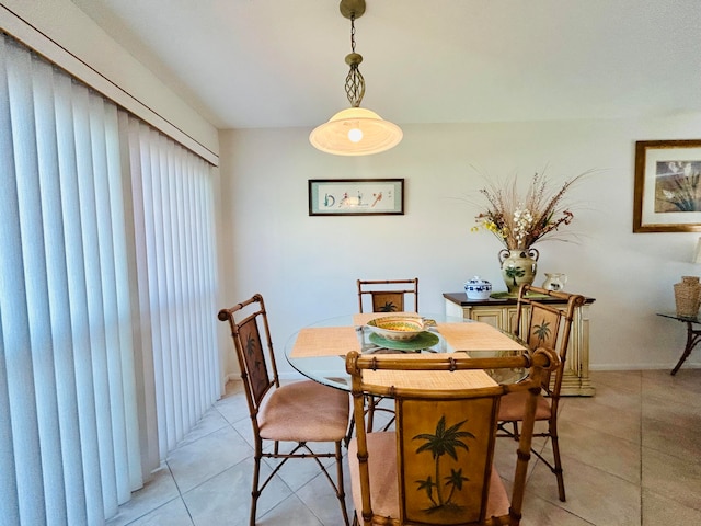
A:
[[[559,299],[566,305],[563,308],[562,305],[556,307],[538,301],[539,295]],[[543,377],[543,388],[551,396],[560,396],[574,311],[584,302],[585,298],[582,295],[548,290],[532,285],[521,285],[518,291],[514,333],[525,340],[530,348],[545,346],[554,348],[560,355],[560,367],[555,370],[554,381],[550,380],[550,374]]]

